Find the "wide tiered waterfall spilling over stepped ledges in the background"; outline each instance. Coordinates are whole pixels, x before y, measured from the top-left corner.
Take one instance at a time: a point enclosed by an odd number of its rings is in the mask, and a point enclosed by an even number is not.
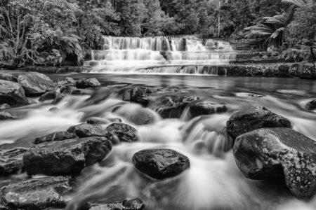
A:
[[[217,75],[216,66],[235,60],[230,43],[197,36],[103,36],[101,50],[91,51],[93,72],[190,73]]]

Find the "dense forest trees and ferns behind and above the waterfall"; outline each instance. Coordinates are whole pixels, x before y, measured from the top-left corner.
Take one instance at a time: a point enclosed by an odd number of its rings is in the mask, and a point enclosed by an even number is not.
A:
[[[220,7],[218,0],[1,0],[0,60],[79,64],[102,35],[210,34],[312,46],[315,25],[315,0],[226,0]]]

